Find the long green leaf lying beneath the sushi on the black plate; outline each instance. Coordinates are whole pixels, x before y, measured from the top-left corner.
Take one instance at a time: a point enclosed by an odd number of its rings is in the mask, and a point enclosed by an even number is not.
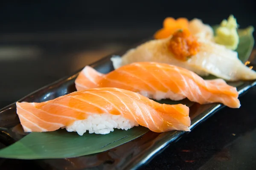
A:
[[[237,52],[242,62],[249,58],[254,39],[252,36],[253,27],[239,29],[239,45]],[[213,79],[212,75],[205,79]],[[234,85],[241,85],[234,84]],[[182,103],[188,107],[193,104],[188,99],[181,101],[161,100],[157,101],[166,104]],[[149,130],[145,127],[133,127],[129,130],[114,130],[107,135],[85,133],[79,136],[76,132],[56,130],[54,132],[29,133],[23,139],[0,150],[0,157],[11,159],[58,159],[84,156],[93,153],[103,152],[121,144],[129,142],[142,136]]]

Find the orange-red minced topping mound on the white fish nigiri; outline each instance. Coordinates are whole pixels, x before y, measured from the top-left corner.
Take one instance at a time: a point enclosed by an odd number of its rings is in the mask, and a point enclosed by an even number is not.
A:
[[[169,41],[168,48],[177,59],[186,61],[199,51],[199,42],[188,29],[176,31]]]

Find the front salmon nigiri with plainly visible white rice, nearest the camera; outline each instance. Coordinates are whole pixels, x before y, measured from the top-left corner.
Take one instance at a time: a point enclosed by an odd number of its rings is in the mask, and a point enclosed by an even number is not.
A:
[[[166,105],[119,88],[91,88],[47,102],[16,102],[25,132],[47,132],[66,128],[83,135],[86,131],[108,134],[114,128],[148,127],[154,132],[190,131],[189,108]]]

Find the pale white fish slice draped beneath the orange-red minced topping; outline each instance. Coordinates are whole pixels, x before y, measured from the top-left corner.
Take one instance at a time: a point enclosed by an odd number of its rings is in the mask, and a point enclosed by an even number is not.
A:
[[[256,79],[256,72],[239,60],[236,51],[224,45],[198,34],[198,42],[201,43],[198,54],[187,61],[180,61],[169,52],[167,44],[170,38],[151,40],[127,51],[121,58],[112,57],[113,67],[116,69],[132,62],[163,62],[186,68],[200,76],[212,74],[228,81]]]

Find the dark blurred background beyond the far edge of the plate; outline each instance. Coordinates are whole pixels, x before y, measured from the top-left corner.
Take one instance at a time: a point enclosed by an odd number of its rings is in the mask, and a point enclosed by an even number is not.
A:
[[[256,27],[255,0],[6,0],[0,3],[0,108],[152,36],[165,17]],[[255,33],[254,33],[255,35]]]

